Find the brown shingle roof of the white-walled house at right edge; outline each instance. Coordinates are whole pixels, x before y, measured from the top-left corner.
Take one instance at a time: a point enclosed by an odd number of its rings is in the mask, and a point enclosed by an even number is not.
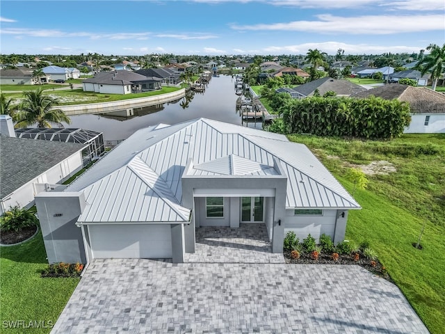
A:
[[[409,102],[411,113],[445,113],[445,95],[429,88],[389,84],[357,93],[353,97],[366,98],[371,95],[384,100]]]

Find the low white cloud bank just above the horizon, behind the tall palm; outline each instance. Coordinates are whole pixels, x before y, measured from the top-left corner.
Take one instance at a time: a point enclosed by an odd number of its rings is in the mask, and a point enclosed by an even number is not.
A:
[[[383,54],[385,52],[418,52],[423,48],[423,46],[347,44],[330,41],[304,43],[300,45],[270,46],[262,49],[261,54],[306,54],[309,49],[319,49],[327,54],[335,54],[338,49],[345,50],[345,54]]]

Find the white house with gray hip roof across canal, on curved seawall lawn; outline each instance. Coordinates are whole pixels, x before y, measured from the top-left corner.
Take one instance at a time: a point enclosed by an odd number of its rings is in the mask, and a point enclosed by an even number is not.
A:
[[[161,79],[127,70],[100,72],[83,80],[82,85],[83,91],[101,94],[131,94],[162,88]]]

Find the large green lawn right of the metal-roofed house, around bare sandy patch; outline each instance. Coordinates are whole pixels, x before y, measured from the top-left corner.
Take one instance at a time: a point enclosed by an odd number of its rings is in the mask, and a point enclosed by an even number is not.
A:
[[[430,332],[445,333],[445,134],[390,142],[289,138],[311,148],[350,192],[344,162],[394,164],[396,173],[369,176],[368,189],[355,192],[363,209],[350,212],[346,239],[369,240]],[[423,250],[416,250],[423,223]]]

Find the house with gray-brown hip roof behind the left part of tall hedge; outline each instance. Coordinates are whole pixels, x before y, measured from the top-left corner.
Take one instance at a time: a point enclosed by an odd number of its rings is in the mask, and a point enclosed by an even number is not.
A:
[[[318,90],[318,93],[321,96],[325,95],[325,93],[329,91],[333,91],[338,96],[349,96],[357,92],[362,92],[366,90],[366,88],[354,84],[348,80],[343,80],[343,79],[339,80],[339,79],[332,79],[330,77],[324,77],[291,88],[291,90],[293,90],[294,93],[289,91],[286,91],[286,93],[290,93],[293,98],[302,98],[314,95],[316,90]],[[277,90],[277,93],[283,93],[283,92],[284,90],[281,91]]]

